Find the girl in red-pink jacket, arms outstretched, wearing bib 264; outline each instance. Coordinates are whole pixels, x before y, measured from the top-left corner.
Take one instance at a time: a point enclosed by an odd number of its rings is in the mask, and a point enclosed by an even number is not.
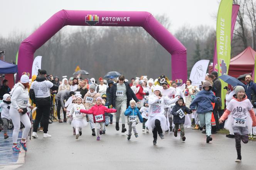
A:
[[[81,109],[81,113],[93,114],[93,121],[96,124],[96,132],[97,132],[97,140],[99,140],[99,135],[102,134],[104,130],[105,123],[105,113],[114,113],[116,109],[108,109],[107,107],[102,105],[103,99],[101,97],[97,97],[96,104],[91,107],[89,110]]]

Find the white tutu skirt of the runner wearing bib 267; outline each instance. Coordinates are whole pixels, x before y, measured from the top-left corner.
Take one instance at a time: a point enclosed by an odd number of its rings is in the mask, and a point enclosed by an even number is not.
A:
[[[161,123],[161,128],[163,131],[168,130],[167,120],[164,114],[156,114],[155,116],[149,116],[145,126],[148,129],[153,130],[155,128],[155,120],[158,119]]]

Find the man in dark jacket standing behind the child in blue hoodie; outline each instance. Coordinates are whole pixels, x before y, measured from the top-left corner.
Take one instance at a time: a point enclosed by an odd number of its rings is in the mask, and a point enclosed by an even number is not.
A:
[[[215,92],[216,97],[221,98],[221,89],[222,89],[221,81],[218,78],[217,71],[212,71],[212,75],[214,76],[212,91]],[[223,129],[223,126],[224,126],[224,124],[222,124],[221,126],[219,125],[219,117],[221,117],[223,114],[221,107],[222,107],[222,102],[219,102],[218,104],[217,103],[215,104],[215,107],[213,109],[213,115],[216,122],[216,130],[219,130],[220,128]],[[215,128],[213,128],[212,133],[216,132],[216,130]]]

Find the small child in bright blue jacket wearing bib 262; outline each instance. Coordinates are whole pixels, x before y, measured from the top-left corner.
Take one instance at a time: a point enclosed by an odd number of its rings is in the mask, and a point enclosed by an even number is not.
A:
[[[129,127],[127,139],[131,139],[131,129],[133,129],[135,137],[139,137],[138,133],[136,132],[136,124],[138,124],[137,116],[139,117],[141,123],[143,122],[143,118],[140,114],[139,109],[136,107],[135,100],[130,101],[130,106],[128,107],[128,109],[126,109],[125,116],[127,116],[127,122]]]

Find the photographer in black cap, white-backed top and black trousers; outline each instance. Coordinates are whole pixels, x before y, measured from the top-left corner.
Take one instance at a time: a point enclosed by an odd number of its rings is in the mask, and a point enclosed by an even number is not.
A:
[[[44,138],[52,137],[47,134],[48,125],[49,125],[49,116],[51,109],[51,93],[50,89],[57,90],[58,87],[51,82],[53,79],[51,75],[47,76],[45,70],[38,70],[39,75],[35,81],[31,84],[29,94],[30,99],[35,102],[37,106],[37,114],[35,116],[35,122],[33,127],[33,138],[38,138],[37,127],[40,122],[41,117],[43,116],[43,126],[44,126]],[[47,79],[46,79],[47,77]]]

